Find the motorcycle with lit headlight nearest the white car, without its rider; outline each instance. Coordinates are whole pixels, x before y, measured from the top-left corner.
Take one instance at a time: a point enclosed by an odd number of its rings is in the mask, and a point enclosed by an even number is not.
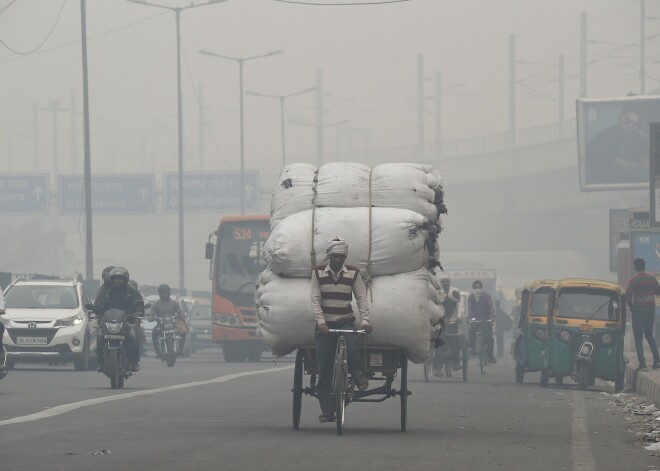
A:
[[[112,389],[123,388],[124,380],[134,374],[127,340],[132,335],[136,319],[139,319],[139,316],[128,314],[121,309],[109,309],[103,314],[100,325],[103,341],[101,372],[110,378]]]

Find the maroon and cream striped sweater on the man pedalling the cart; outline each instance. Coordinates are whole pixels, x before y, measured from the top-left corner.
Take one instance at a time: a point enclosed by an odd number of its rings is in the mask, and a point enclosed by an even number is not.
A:
[[[369,324],[369,302],[360,270],[342,265],[338,273],[330,265],[314,267],[311,281],[312,311],[318,325],[339,323],[355,319],[351,301],[355,300],[362,325]]]

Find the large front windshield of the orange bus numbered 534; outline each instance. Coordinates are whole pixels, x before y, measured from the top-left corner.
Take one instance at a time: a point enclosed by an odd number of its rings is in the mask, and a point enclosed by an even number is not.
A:
[[[270,234],[263,221],[231,221],[218,230],[216,283],[220,292],[248,294],[254,291],[257,276],[266,268],[261,256]]]

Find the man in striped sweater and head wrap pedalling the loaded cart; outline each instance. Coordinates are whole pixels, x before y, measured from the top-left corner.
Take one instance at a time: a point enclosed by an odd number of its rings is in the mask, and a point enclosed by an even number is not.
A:
[[[316,363],[319,371],[317,397],[321,406],[319,422],[335,420],[335,402],[332,397],[332,374],[334,370],[337,336],[329,329],[353,329],[355,316],[351,301],[353,296],[360,311],[360,324],[367,332],[372,331],[369,324],[369,303],[367,289],[364,286],[360,270],[345,265],[348,256],[348,244],[341,237],[328,241],[323,260],[326,265],[317,265],[312,272],[311,297],[312,311],[316,319]],[[360,356],[355,346],[353,335],[346,336],[348,367],[358,389],[369,387],[369,382],[360,367]]]

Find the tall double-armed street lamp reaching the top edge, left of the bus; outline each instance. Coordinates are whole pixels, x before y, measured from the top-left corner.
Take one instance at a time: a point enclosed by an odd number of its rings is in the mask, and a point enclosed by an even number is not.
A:
[[[185,289],[184,281],[184,250],[183,250],[183,112],[181,104],[181,29],[180,19],[181,12],[190,8],[201,7],[210,5],[212,3],[222,3],[226,0],[208,0],[203,3],[190,3],[185,7],[170,7],[166,5],[159,5],[157,3],[149,3],[144,0],[128,0],[131,3],[139,3],[156,8],[164,8],[174,12],[176,19],[176,85],[177,85],[177,105],[178,105],[178,127],[179,127],[179,289]]]

